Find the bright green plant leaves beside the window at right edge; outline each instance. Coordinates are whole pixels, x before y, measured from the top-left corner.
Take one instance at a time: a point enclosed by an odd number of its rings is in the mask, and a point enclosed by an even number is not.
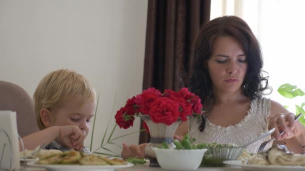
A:
[[[303,96],[305,95],[304,91],[300,88],[297,88],[296,85],[291,85],[289,83],[284,83],[277,89],[277,92],[279,92],[282,96],[286,98],[294,98],[296,96]],[[295,114],[298,113],[304,113],[305,110],[303,109],[303,106],[305,106],[305,102],[302,102],[301,105],[295,104]],[[285,108],[288,108],[288,106],[284,105]],[[300,117],[298,119],[303,125],[305,125],[305,118],[304,116]]]

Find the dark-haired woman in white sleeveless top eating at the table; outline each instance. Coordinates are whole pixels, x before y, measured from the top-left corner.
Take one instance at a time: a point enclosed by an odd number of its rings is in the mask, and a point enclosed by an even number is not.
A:
[[[305,127],[294,122],[295,115],[281,104],[262,97],[269,89],[268,77],[262,76],[259,43],[244,20],[223,16],[206,23],[195,40],[194,54],[189,88],[200,96],[206,112],[202,120],[191,117],[182,123],[177,138],[189,132],[197,142],[243,144],[274,127],[274,143],[303,151]],[[250,144],[247,150],[256,153],[270,138]],[[123,144],[122,157],[141,157],[144,146]]]

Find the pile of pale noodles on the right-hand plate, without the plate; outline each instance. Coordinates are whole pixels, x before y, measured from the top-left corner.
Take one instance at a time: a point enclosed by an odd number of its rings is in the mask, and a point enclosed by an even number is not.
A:
[[[305,166],[305,155],[288,151],[285,145],[274,145],[268,151],[254,154],[248,164]]]

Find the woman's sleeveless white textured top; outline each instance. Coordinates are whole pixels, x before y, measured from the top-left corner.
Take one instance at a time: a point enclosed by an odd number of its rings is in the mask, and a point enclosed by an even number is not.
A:
[[[190,136],[197,138],[197,143],[216,142],[220,144],[234,143],[241,145],[268,130],[267,117],[269,115],[270,99],[256,98],[251,101],[250,109],[248,110],[246,116],[235,125],[222,127],[211,123],[207,119],[205,129],[203,132],[201,132],[199,130],[201,120],[195,117],[190,117],[189,134]],[[270,135],[253,142],[247,147],[247,150],[251,153],[256,153],[259,145],[268,139],[271,139]],[[271,145],[272,142],[270,142],[265,149],[270,148]]]

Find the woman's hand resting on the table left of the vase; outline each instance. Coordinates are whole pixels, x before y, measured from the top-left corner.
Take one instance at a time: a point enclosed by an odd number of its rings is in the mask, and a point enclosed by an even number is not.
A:
[[[123,150],[121,152],[122,158],[129,158],[129,157],[137,157],[137,158],[143,158],[145,156],[144,154],[144,148],[147,145],[147,143],[142,143],[139,145],[132,144],[127,145],[126,143],[123,143]]]

